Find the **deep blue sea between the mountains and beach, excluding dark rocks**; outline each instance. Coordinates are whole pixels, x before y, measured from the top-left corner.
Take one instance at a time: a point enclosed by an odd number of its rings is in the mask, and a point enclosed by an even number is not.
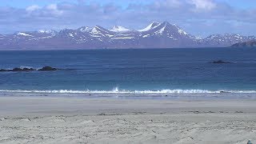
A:
[[[0,91],[256,93],[256,48],[0,51],[0,69],[43,66],[68,70],[0,72]]]

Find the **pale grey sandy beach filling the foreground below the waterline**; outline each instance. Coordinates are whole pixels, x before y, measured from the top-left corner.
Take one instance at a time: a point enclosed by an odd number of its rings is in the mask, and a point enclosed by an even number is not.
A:
[[[0,97],[0,143],[256,143],[255,100]]]

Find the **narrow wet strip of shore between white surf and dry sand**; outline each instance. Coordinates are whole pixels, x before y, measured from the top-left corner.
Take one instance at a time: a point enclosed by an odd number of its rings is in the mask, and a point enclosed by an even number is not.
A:
[[[87,98],[87,99],[163,99],[163,100],[256,100],[256,93],[155,93],[155,94],[135,94],[135,93],[42,93],[42,92],[16,92],[1,91],[1,97],[44,97],[44,98]]]

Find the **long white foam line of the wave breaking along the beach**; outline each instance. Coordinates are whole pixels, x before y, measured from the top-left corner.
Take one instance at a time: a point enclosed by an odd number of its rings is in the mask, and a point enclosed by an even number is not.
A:
[[[46,94],[220,94],[238,93],[254,94],[256,90],[0,90],[14,93],[46,93]]]

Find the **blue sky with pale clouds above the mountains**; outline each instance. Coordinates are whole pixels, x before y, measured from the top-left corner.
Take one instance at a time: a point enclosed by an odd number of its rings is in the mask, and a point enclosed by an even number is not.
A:
[[[256,35],[256,0],[1,0],[0,34],[170,22],[196,36]]]

